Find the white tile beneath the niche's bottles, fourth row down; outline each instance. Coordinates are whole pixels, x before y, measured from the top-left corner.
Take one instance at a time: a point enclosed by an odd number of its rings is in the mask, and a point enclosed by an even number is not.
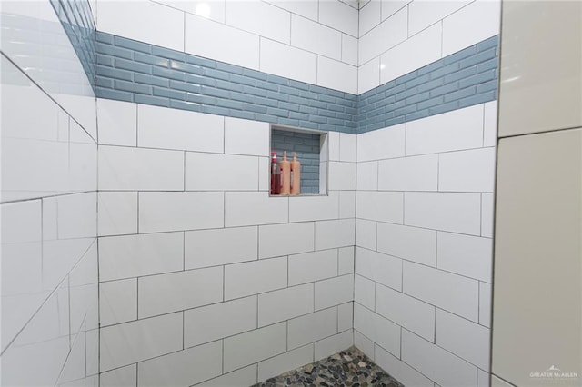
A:
[[[314,311],[313,283],[258,295],[258,326],[289,320]]]

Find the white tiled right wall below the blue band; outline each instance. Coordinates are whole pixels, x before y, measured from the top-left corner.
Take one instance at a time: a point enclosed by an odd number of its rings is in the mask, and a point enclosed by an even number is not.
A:
[[[487,380],[493,109],[358,134],[355,343],[406,385]]]

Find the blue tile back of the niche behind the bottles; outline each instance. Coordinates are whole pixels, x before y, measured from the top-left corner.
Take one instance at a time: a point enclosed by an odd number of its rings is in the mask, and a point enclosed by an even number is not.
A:
[[[283,151],[293,159],[296,152],[301,163],[301,193],[319,193],[319,134],[271,131],[271,151],[282,160]]]

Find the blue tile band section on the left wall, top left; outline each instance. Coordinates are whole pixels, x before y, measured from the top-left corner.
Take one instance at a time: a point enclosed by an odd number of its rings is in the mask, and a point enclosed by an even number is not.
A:
[[[88,0],[50,0],[95,91],[95,21]]]

